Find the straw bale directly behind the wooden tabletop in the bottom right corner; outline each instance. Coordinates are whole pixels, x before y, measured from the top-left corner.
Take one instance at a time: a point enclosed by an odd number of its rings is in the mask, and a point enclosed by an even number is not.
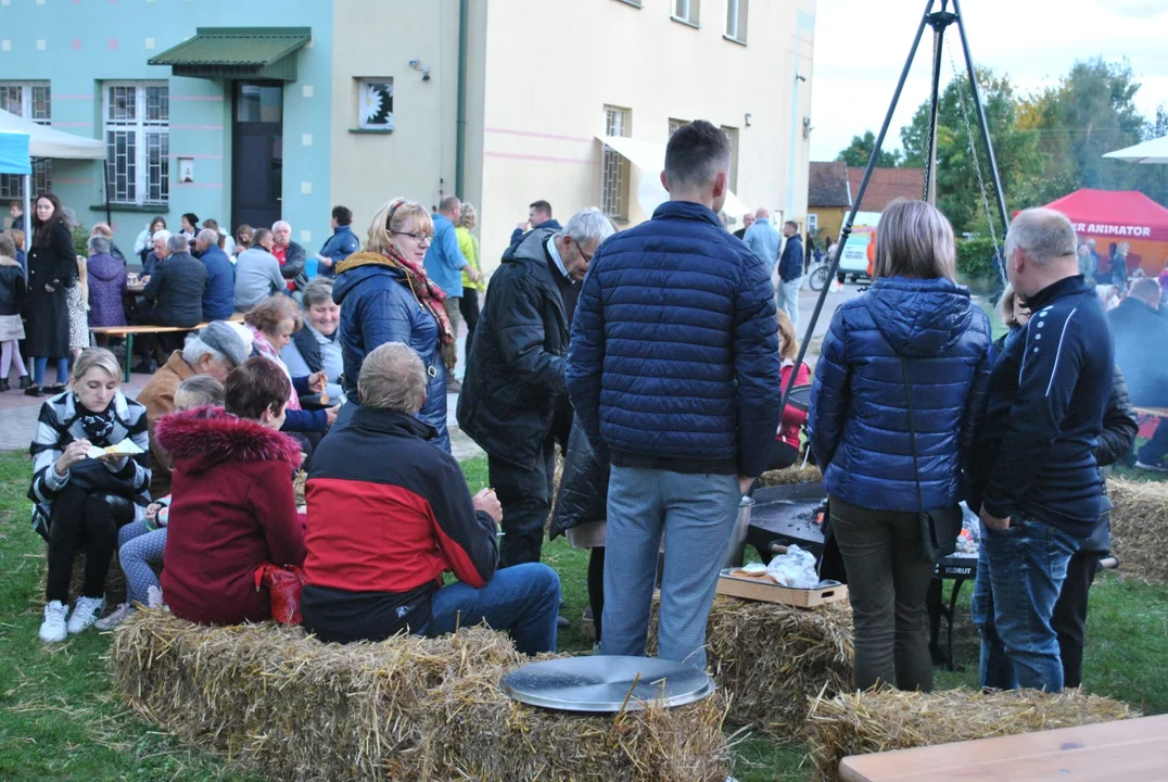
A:
[[[982,693],[897,690],[818,698],[807,715],[815,780],[840,778],[840,761],[890,749],[1049,731],[1139,717],[1111,698],[1078,690]]]

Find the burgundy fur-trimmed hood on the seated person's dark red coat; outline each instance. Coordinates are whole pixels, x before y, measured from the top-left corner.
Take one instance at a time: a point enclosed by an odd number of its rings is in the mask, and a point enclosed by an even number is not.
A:
[[[187,472],[203,472],[224,462],[286,462],[300,465],[300,445],[255,421],[228,415],[220,407],[197,407],[158,420],[154,438]]]

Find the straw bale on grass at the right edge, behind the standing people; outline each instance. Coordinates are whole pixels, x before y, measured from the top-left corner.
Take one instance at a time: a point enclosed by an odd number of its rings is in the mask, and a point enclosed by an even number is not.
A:
[[[1168,583],[1168,483],[1110,478],[1111,547],[1119,572],[1154,583]]]

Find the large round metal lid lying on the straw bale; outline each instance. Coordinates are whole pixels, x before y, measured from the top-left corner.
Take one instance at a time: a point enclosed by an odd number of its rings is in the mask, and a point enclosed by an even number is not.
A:
[[[691,704],[714,692],[714,681],[704,671],[684,663],[593,655],[533,663],[503,677],[502,690],[531,706],[613,713],[621,707],[640,710],[648,701],[665,706]]]

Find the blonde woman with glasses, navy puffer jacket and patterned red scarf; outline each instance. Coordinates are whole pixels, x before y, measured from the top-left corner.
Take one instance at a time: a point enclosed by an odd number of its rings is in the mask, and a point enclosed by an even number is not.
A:
[[[426,276],[423,261],[433,221],[416,201],[387,202],[369,224],[364,250],[336,264],[333,300],[341,307],[340,342],[348,404],[343,425],[360,404],[357,381],[366,355],[385,342],[409,345],[422,358],[429,382],[417,417],[433,428],[433,444],[450,450],[446,372],[454,365],[454,333],[443,307],[446,295]]]

